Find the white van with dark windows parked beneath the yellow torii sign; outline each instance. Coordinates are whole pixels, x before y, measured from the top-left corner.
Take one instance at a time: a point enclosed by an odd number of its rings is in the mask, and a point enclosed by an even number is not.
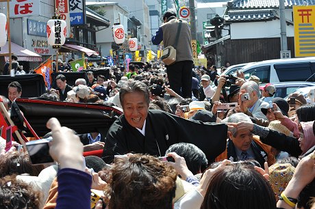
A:
[[[315,82],[315,57],[271,59],[248,64],[242,68],[245,79],[251,75],[262,83],[283,81]]]

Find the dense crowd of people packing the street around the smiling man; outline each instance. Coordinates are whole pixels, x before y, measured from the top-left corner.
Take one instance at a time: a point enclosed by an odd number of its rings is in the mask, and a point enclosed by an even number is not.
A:
[[[153,43],[169,36],[171,45],[176,14],[163,18]],[[25,150],[5,151],[1,139],[0,208],[315,208],[315,104],[297,93],[275,98],[275,87],[260,87],[257,76],[219,75],[185,56],[176,69],[113,66],[109,78],[87,72],[74,87],[56,76],[57,88],[41,98],[123,114],[107,135],[78,135],[51,118],[57,164],[32,165]],[[9,99],[1,96],[8,111],[22,88],[14,81]],[[82,158],[91,150],[103,150],[102,158]]]

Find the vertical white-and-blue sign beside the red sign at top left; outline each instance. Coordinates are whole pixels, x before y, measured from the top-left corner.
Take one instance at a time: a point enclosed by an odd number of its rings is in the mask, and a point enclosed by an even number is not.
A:
[[[70,23],[71,25],[85,24],[85,3],[84,0],[69,0]]]

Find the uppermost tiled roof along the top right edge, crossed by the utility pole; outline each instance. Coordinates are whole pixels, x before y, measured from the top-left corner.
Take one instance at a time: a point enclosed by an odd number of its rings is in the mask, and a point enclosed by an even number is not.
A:
[[[292,5],[315,5],[315,0],[284,0],[286,8]],[[258,8],[279,8],[279,0],[234,0],[228,3],[231,9],[258,9]]]

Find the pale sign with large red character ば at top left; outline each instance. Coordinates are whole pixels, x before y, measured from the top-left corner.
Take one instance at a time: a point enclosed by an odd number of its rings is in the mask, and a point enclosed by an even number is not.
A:
[[[38,16],[40,14],[40,0],[12,0],[10,1],[10,17]]]

